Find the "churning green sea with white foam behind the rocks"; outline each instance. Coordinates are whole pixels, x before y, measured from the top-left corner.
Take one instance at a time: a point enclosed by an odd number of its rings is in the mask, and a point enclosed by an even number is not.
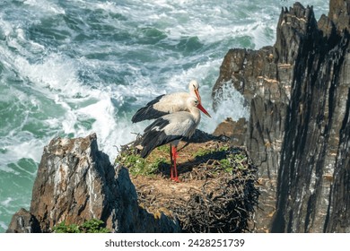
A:
[[[316,18],[328,1],[314,6]],[[56,136],[96,133],[99,148],[135,139],[138,108],[200,84],[199,128],[249,117],[237,91],[216,111],[211,91],[230,48],[273,45],[282,6],[293,1],[0,0],[0,232],[29,209],[43,147]],[[228,109],[230,106],[234,109]]]

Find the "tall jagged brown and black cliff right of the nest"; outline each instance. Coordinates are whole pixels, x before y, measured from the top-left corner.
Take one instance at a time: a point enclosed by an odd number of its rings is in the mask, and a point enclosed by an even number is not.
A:
[[[350,231],[349,6],[331,0],[317,22],[312,7],[293,4],[274,46],[223,59],[214,102],[232,85],[250,106],[245,145],[263,185],[258,229]]]

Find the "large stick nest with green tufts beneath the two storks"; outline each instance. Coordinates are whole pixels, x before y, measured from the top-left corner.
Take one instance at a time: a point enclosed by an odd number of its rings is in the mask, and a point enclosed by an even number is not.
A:
[[[126,161],[130,155],[136,155],[136,150],[126,147],[116,161],[133,169],[135,164]],[[179,150],[179,183],[169,178],[170,161],[165,160],[169,160],[169,149],[162,147],[144,160],[145,166],[147,162],[152,166],[151,173],[130,171],[140,206],[154,217],[162,213],[174,217],[184,232],[255,230],[258,169],[247,151],[215,140],[190,143]]]

